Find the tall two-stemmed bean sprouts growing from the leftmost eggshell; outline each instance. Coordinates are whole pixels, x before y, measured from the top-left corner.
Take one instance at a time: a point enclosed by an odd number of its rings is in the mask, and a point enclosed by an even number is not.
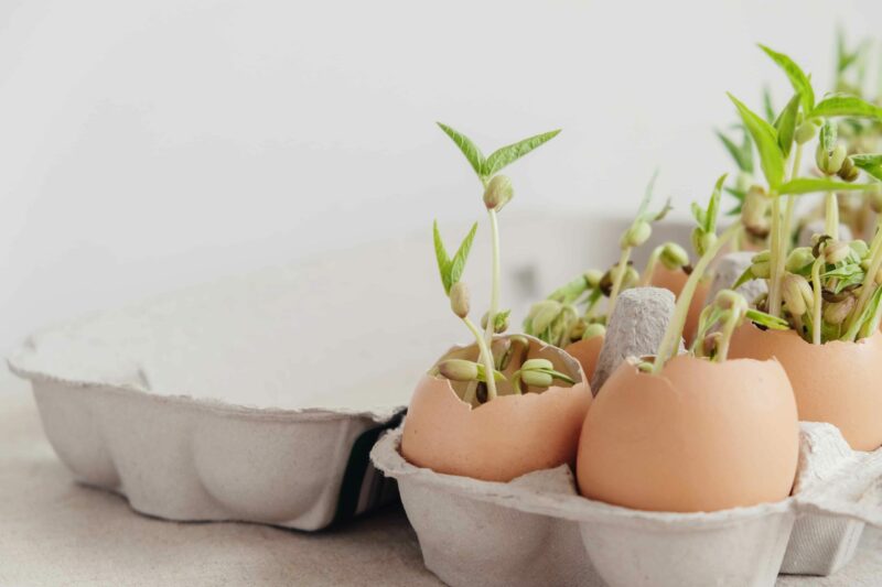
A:
[[[463,401],[473,403],[475,399],[480,403],[491,401],[498,395],[497,383],[507,381],[503,371],[513,365],[515,359],[523,362],[520,368],[512,376],[512,389],[514,393],[521,392],[521,382],[528,385],[544,387],[551,385],[552,381],[560,380],[568,384],[574,381],[567,376],[556,371],[550,361],[546,359],[526,359],[529,341],[521,336],[512,336],[504,339],[494,339],[495,334],[501,334],[508,326],[508,309],[499,308],[501,298],[501,254],[499,254],[499,225],[498,213],[512,200],[514,188],[512,181],[499,174],[504,167],[523,157],[534,149],[553,139],[560,131],[555,130],[542,134],[537,134],[523,141],[503,146],[488,156],[484,156],[475,143],[465,134],[448,127],[438,124],[444,133],[459,146],[460,151],[469,161],[482,185],[482,199],[487,211],[491,227],[492,242],[492,289],[490,298],[490,309],[482,318],[482,333],[478,327],[469,318],[470,295],[469,290],[461,280],[465,269],[465,262],[472,247],[477,224],[460,244],[455,254],[451,258],[447,253],[438,224],[434,225],[434,250],[438,261],[441,284],[444,293],[450,298],[453,313],[463,322],[469,331],[475,339],[478,349],[478,361],[467,361],[464,359],[448,359],[439,363],[437,374],[441,374],[452,381],[467,382]],[[493,373],[492,376],[490,373]]]

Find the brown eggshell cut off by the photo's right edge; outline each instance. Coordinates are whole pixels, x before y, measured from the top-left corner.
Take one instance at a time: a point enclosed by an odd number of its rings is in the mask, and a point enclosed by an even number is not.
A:
[[[794,330],[735,330],[730,357],[775,357],[790,378],[799,420],[829,422],[857,450],[882,446],[882,334],[857,343],[806,343]]]

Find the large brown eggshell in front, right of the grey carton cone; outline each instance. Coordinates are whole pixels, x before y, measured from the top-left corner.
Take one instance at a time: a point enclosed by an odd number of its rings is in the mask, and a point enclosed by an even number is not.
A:
[[[778,501],[798,449],[796,402],[775,361],[679,356],[657,376],[623,362],[585,417],[579,490],[671,512]]]

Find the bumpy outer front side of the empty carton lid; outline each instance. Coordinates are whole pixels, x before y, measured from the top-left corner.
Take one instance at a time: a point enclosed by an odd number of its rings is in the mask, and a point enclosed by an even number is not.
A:
[[[139,371],[126,382],[87,382],[31,370],[28,362],[24,351],[10,367],[31,381],[61,460],[78,482],[120,493],[138,512],[319,530],[396,496],[368,454],[400,412],[157,395]]]

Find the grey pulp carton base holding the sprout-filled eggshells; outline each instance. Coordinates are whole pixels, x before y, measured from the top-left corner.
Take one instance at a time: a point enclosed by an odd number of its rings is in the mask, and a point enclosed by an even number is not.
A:
[[[387,433],[372,459],[398,481],[427,568],[454,587],[771,586],[785,555],[792,564],[841,556],[828,550],[829,533],[818,536],[797,522],[882,526],[882,452],[847,453],[822,478],[806,466],[818,454],[830,456],[825,446],[843,443],[829,424],[803,424],[803,469],[792,497],[709,513],[637,511],[582,498],[568,466],[508,483],[442,475],[408,464],[400,438],[400,428]]]

